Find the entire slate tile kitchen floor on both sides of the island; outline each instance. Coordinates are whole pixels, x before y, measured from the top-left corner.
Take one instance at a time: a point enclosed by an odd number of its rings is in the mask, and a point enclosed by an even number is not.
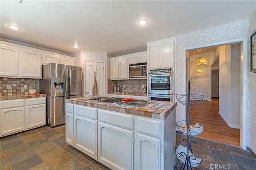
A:
[[[186,136],[177,134],[176,145]],[[256,170],[256,159],[248,150],[212,140],[192,137],[202,158],[198,170]],[[212,164],[212,166],[211,166]],[[181,162],[176,160],[178,168]],[[0,170],[109,170],[65,142],[65,125],[41,127],[0,140]]]

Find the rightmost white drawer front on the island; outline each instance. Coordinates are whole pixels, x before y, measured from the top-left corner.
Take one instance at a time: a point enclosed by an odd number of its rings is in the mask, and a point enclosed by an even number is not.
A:
[[[136,130],[161,137],[161,121],[136,117]]]

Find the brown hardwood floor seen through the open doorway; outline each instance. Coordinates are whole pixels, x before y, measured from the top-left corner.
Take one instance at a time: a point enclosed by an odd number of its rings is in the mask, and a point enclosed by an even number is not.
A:
[[[190,120],[204,123],[204,131],[198,137],[240,146],[240,129],[228,127],[218,111],[218,98],[190,106]]]

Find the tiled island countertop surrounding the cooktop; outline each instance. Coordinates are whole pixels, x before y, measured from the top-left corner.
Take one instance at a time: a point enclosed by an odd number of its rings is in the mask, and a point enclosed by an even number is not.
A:
[[[99,97],[99,96],[94,96],[94,97]],[[83,105],[83,106],[94,107],[98,109],[105,109],[109,111],[116,111],[120,113],[127,113],[127,114],[150,117],[150,118],[161,119],[161,120],[164,120],[166,117],[168,117],[168,115],[177,106],[176,102],[156,101],[156,100],[152,100],[154,101],[153,103],[149,103],[140,108],[112,105],[112,104],[99,103],[94,101],[84,101],[84,99],[90,99],[90,98],[92,97],[66,99],[66,102],[76,104],[76,105]]]

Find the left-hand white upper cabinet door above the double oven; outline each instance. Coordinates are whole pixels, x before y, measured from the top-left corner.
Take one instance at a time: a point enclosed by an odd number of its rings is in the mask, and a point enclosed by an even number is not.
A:
[[[159,45],[148,46],[148,69],[159,68],[159,54]]]

